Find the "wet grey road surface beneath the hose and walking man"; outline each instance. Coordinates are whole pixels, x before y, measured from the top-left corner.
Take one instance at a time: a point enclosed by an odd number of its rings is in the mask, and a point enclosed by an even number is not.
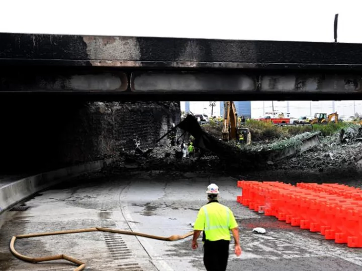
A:
[[[237,179],[208,174],[134,172],[122,177],[84,180],[42,192],[23,211],[0,215],[0,270],[73,270],[74,265],[27,263],[9,250],[13,235],[95,226],[170,236],[192,230],[190,222],[206,203],[205,189],[219,185],[220,202],[229,206],[240,225],[243,253],[230,246],[229,271],[234,270],[360,270],[362,249],[348,248],[265,217],[236,202]],[[252,228],[264,227],[265,235]],[[191,237],[175,242],[102,232],[19,239],[16,248],[29,256],[64,253],[86,263],[85,270],[205,270],[202,246],[191,249]]]

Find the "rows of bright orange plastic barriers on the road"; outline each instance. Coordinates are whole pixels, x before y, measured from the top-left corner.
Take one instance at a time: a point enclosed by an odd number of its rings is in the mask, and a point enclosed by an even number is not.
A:
[[[237,201],[325,239],[362,247],[362,190],[340,184],[238,181]]]

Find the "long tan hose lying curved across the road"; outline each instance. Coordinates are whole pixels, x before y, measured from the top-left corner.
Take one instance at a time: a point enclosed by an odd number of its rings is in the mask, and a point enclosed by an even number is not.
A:
[[[67,261],[70,261],[72,263],[79,265],[78,267],[76,267],[74,269],[74,271],[80,271],[80,270],[83,270],[85,267],[85,263],[80,260],[74,259],[74,258],[69,257],[64,254],[45,256],[45,257],[28,257],[28,256],[22,255],[18,251],[16,251],[15,241],[17,239],[22,239],[22,238],[32,238],[32,237],[40,237],[40,236],[48,236],[48,235],[71,234],[71,233],[81,233],[81,232],[91,232],[91,231],[103,231],[103,232],[112,232],[112,233],[120,233],[120,234],[127,234],[127,235],[136,235],[136,236],[141,236],[141,237],[146,237],[146,238],[151,238],[151,239],[156,239],[156,240],[162,240],[162,241],[177,241],[177,240],[185,239],[185,238],[193,235],[193,232],[191,231],[184,235],[171,235],[169,237],[163,237],[163,236],[151,235],[151,234],[146,234],[146,233],[141,233],[141,232],[96,227],[96,228],[87,228],[87,229],[63,230],[63,231],[16,235],[16,236],[13,236],[10,241],[10,250],[13,253],[13,255],[16,256],[17,258],[24,260],[24,261],[32,262],[32,263],[64,259],[64,260],[67,260]]]

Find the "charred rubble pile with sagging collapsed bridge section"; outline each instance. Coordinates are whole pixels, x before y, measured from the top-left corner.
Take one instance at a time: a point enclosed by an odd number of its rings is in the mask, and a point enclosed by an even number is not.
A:
[[[355,167],[362,168],[362,128],[350,125],[333,135],[324,136],[318,132],[304,132],[284,140],[253,142],[251,145],[238,145],[236,142],[223,142],[219,137],[206,132],[189,115],[171,131],[180,128],[180,134],[193,138],[196,152],[183,159],[180,145],[185,138],[176,141],[175,146],[159,145],[142,148],[135,142],[134,154],[123,155],[120,167],[143,170],[175,171],[217,171],[238,169],[253,170],[318,170]],[[167,134],[163,135],[164,138]],[[159,141],[158,141],[159,142]],[[137,144],[138,143],[138,144]],[[188,144],[188,140],[185,141]]]

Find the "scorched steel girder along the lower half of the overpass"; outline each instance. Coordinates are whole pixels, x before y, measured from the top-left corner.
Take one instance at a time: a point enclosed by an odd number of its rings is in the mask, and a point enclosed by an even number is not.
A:
[[[8,67],[0,74],[0,94],[4,92],[57,92],[136,95],[180,95],[191,97],[233,96],[256,100],[267,95],[281,97],[320,95],[361,95],[360,74],[306,74],[197,71],[129,71],[98,68]],[[259,96],[259,97],[257,97]],[[205,97],[204,97],[205,98]],[[322,99],[323,99],[322,98]],[[328,98],[331,98],[328,96]],[[169,97],[168,97],[169,99]],[[214,99],[215,100],[215,99]]]

